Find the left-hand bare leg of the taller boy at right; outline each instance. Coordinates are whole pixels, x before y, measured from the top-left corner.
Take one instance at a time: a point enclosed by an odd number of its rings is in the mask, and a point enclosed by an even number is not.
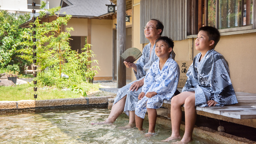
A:
[[[181,105],[185,103],[186,98],[190,95],[195,94],[194,92],[183,92],[171,99],[171,129],[172,133],[169,138],[163,141],[170,141],[175,139],[181,139],[180,136],[180,123],[182,118]]]

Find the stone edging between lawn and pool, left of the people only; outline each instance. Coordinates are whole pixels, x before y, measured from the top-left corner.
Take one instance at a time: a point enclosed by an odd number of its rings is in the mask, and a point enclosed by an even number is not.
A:
[[[59,107],[70,105],[108,105],[108,99],[113,96],[90,96],[85,98],[65,98],[47,100],[19,100],[19,101],[0,101],[0,112],[9,110],[22,110],[27,108]]]

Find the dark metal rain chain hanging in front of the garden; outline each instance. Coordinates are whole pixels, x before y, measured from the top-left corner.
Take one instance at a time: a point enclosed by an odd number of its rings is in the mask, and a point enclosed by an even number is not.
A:
[[[36,24],[35,24],[35,21],[36,21],[36,17],[35,17],[35,14],[36,14],[36,10],[35,10],[35,6],[36,6],[36,3],[35,3],[35,0],[33,0],[33,3],[32,3],[32,6],[33,6],[33,9],[32,9],[32,13],[33,13],[33,17],[32,17],[32,20],[33,20],[33,24],[32,24],[32,30],[33,30],[33,37],[32,37],[32,40],[33,40],[33,77],[34,77],[34,80],[33,80],[33,84],[35,85],[34,87],[34,91],[35,91],[35,94],[34,94],[34,99],[36,100],[37,98],[37,94],[36,94],[36,91],[37,91],[37,87],[36,87],[36,84],[37,84],[37,80],[36,80],[36,75],[37,75],[37,72],[36,72]]]

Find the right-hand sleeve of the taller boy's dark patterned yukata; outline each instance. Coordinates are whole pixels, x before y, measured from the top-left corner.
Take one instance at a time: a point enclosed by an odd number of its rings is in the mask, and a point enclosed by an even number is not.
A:
[[[210,75],[210,85],[213,91],[213,100],[216,106],[238,103],[235,91],[229,76],[229,67],[222,55],[215,56]]]

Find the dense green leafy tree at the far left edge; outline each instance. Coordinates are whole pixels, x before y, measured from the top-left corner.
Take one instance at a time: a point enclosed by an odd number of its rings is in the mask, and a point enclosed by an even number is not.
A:
[[[23,32],[26,28],[20,28],[19,25],[28,21],[29,14],[16,15],[8,13],[6,10],[0,10],[0,67],[6,67],[8,64],[18,64],[20,72],[24,72],[24,67],[30,63],[17,57],[16,50],[25,46],[20,45],[23,41]]]

